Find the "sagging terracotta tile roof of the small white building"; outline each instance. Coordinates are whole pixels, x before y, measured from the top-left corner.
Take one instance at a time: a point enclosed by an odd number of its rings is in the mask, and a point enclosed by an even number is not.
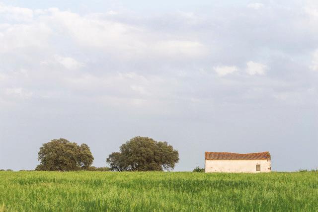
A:
[[[268,151],[256,153],[205,152],[206,160],[270,160]]]

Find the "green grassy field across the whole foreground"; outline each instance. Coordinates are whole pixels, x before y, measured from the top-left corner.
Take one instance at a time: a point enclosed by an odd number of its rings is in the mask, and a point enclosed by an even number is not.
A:
[[[318,211],[318,172],[0,172],[3,211]]]

